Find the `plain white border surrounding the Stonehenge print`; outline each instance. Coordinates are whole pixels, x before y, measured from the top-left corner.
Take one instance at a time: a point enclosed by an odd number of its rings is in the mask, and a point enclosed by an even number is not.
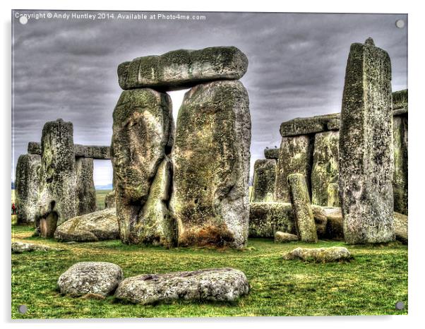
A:
[[[346,3],[345,3],[346,2]],[[91,319],[56,321],[13,321],[11,323],[11,272],[10,272],[10,177],[11,177],[11,9],[80,9],[80,10],[135,10],[135,11],[280,11],[280,12],[335,12],[335,13],[408,13],[409,14],[409,316],[340,316],[340,317],[282,317],[282,318],[182,318],[182,319]],[[314,328],[414,328],[424,325],[421,309],[424,305],[424,239],[425,218],[421,212],[422,187],[424,185],[424,133],[425,108],[420,95],[424,83],[424,11],[419,1],[288,1],[277,4],[276,1],[2,1],[1,2],[1,65],[3,76],[1,84],[1,241],[3,266],[3,296],[1,298],[1,320],[6,327],[15,328],[75,328],[76,325],[90,325],[90,328],[102,325],[102,328],[116,329],[120,323],[126,328],[140,325],[203,329],[217,328],[222,325],[243,326],[246,329],[258,328],[258,325],[304,326]]]

